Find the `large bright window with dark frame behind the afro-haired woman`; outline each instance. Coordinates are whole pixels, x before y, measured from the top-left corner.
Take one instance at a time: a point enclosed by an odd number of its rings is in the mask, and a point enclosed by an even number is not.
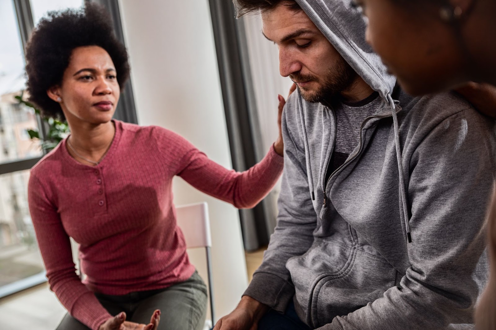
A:
[[[84,2],[0,0],[0,298],[46,281],[27,203],[29,169],[44,154],[27,130],[40,128],[43,137],[44,126],[32,109],[15,99],[26,83],[23,47],[48,11],[80,8]],[[118,0],[97,2],[109,9],[116,30],[122,32]],[[124,107],[118,107],[116,117],[136,123],[130,84],[119,103]]]

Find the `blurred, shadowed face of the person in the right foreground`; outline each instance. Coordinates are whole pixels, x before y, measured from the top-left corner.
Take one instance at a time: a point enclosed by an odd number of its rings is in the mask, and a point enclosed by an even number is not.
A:
[[[357,0],[369,20],[367,41],[412,95],[461,83],[468,70],[453,27],[427,2]]]

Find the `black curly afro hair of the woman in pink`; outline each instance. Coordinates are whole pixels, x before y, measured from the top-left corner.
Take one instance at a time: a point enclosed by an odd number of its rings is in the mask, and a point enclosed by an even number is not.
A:
[[[62,83],[72,51],[77,47],[99,46],[109,53],[117,71],[119,86],[129,78],[125,46],[117,39],[112,19],[103,6],[87,3],[81,9],[51,11],[33,30],[26,46],[27,92],[43,115],[64,119],[59,103],[47,90]]]

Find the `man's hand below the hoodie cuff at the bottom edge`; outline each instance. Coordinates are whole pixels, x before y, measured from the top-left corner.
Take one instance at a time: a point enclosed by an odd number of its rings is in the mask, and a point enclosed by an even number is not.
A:
[[[258,321],[269,307],[255,299],[244,296],[231,314],[220,319],[213,330],[256,330]]]

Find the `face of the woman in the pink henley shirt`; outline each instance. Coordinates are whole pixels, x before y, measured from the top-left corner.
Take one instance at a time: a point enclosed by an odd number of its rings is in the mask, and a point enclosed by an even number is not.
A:
[[[55,101],[62,99],[60,104],[69,123],[106,123],[119,101],[116,74],[112,58],[103,48],[78,47],[72,51],[61,86],[51,88],[48,95]]]

